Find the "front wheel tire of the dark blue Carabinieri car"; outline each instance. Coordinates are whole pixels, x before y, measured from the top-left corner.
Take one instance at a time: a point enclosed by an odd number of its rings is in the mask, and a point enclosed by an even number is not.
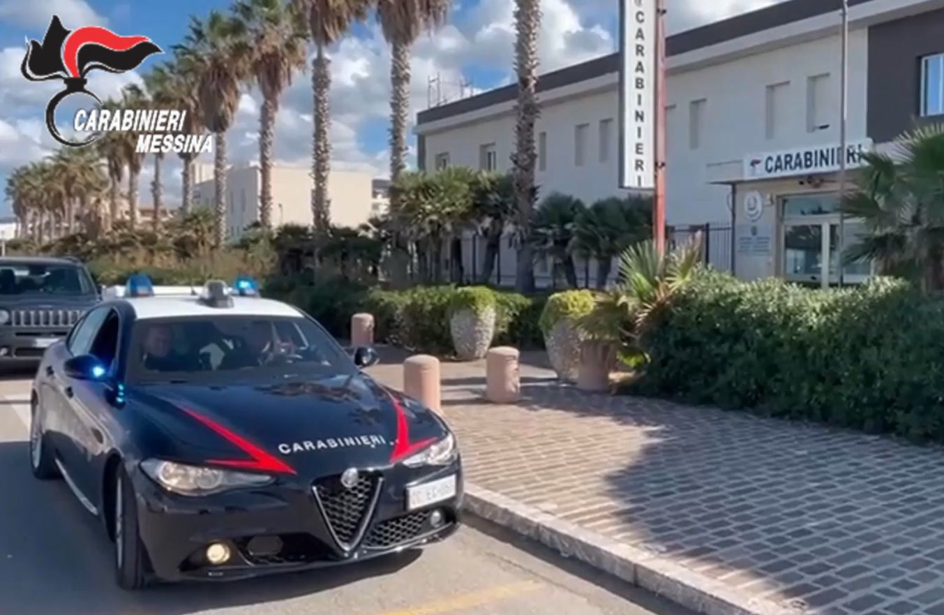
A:
[[[147,587],[147,566],[138,533],[138,506],[124,470],[118,470],[114,488],[115,579],[121,589],[143,589]]]

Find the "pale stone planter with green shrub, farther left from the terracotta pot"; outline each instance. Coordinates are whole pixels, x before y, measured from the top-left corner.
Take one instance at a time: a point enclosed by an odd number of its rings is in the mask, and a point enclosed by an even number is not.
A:
[[[497,316],[495,293],[483,286],[460,288],[449,304],[452,347],[464,361],[481,359],[492,346]]]

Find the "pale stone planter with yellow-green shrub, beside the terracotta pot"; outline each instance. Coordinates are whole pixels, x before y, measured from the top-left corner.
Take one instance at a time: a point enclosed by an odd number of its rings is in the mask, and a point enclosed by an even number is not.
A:
[[[589,290],[568,290],[548,298],[539,321],[548,349],[550,365],[557,377],[576,382],[581,363],[582,331],[577,322],[594,309],[594,295]]]

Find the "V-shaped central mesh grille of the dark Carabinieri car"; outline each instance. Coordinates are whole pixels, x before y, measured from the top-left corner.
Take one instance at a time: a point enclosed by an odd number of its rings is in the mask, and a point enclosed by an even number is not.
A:
[[[322,515],[340,546],[354,546],[373,513],[380,487],[376,474],[362,474],[357,485],[346,488],[340,477],[315,482],[313,490]]]

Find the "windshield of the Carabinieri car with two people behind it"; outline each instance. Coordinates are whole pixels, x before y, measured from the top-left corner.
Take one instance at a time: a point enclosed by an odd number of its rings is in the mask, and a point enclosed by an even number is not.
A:
[[[134,325],[128,355],[129,380],[138,384],[227,384],[356,371],[328,333],[300,317],[141,320]]]

